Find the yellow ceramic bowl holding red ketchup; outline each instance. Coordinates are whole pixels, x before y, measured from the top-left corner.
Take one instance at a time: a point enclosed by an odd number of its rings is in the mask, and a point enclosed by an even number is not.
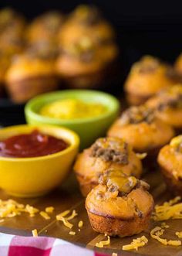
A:
[[[13,196],[35,197],[48,193],[62,183],[79,148],[75,132],[49,125],[17,125],[0,129],[0,141],[13,135],[30,133],[38,129],[42,133],[63,138],[69,147],[52,155],[32,158],[0,157],[0,187]]]

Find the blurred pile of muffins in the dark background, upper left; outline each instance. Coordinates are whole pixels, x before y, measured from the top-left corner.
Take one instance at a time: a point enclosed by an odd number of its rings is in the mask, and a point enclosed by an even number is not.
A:
[[[48,12],[27,23],[22,15],[0,12],[0,91],[24,103],[63,87],[100,87],[118,56],[112,26],[93,6],[69,15]]]

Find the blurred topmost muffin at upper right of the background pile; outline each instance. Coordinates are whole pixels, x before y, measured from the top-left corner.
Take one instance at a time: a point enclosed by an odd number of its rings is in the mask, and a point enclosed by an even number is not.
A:
[[[104,45],[115,39],[115,32],[95,6],[79,5],[61,27],[59,43],[65,47],[82,36],[89,36],[94,43]]]

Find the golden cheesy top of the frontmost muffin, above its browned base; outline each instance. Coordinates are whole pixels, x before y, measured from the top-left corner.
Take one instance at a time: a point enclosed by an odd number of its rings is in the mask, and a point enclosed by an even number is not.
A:
[[[149,185],[114,169],[106,171],[86,198],[86,209],[106,217],[130,220],[147,216],[153,210]]]

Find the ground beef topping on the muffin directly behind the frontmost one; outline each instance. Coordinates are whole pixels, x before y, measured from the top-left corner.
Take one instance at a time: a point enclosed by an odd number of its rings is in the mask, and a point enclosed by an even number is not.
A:
[[[120,138],[99,138],[91,147],[92,157],[99,157],[104,161],[128,164],[128,145]]]

